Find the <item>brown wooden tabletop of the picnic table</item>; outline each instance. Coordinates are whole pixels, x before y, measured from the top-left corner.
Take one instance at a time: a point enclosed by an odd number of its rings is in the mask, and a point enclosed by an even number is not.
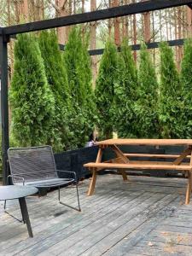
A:
[[[118,138],[95,143],[96,145],[149,145],[149,146],[192,146],[192,139],[137,139]]]

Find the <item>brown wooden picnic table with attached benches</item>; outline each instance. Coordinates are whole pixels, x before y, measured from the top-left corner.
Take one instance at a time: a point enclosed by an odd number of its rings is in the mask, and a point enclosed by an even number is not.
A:
[[[118,169],[125,181],[128,180],[125,170],[128,169],[154,169],[154,170],[177,170],[187,172],[188,184],[186,189],[185,203],[189,204],[192,189],[192,139],[108,139],[96,143],[99,146],[96,162],[84,164],[92,172],[88,195],[93,195],[96,186],[97,172],[103,169]],[[181,154],[125,154],[119,146],[183,146]],[[111,148],[116,154],[114,159],[102,162],[102,154],[105,148]],[[170,161],[143,161],[131,160],[132,157],[149,157],[170,159]],[[185,159],[189,162],[183,162]],[[173,159],[171,161],[171,159]]]

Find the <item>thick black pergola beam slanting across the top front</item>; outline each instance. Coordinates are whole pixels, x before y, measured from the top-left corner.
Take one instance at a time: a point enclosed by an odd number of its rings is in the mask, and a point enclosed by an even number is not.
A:
[[[15,26],[7,26],[3,28],[3,32],[6,35],[14,35],[24,32],[35,32],[59,26],[77,25],[85,22],[106,20],[125,15],[142,14],[148,11],[167,9],[190,4],[192,4],[192,0],[150,0],[141,3],[131,3],[128,5],[109,9],[96,10],[94,12],[88,12],[79,15],[70,15],[55,19],[29,22],[26,24],[20,24]]]

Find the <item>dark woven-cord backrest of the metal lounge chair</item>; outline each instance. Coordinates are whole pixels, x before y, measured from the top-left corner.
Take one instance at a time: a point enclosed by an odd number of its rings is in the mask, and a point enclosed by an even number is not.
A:
[[[58,177],[50,146],[9,148],[8,155],[11,175],[15,175],[13,183],[22,182],[17,175],[24,177],[26,182]]]

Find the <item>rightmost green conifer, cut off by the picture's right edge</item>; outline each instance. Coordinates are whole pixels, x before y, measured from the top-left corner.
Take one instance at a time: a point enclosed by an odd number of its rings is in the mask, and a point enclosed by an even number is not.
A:
[[[181,69],[181,81],[183,92],[183,137],[192,137],[192,38],[185,41],[184,55]]]

